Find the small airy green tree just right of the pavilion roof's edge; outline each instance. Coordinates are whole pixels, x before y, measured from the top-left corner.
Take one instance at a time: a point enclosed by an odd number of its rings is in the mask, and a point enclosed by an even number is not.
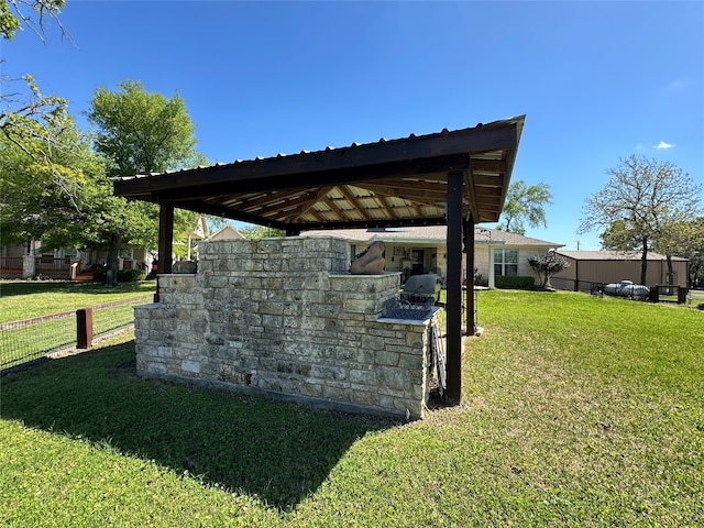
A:
[[[506,201],[497,229],[526,234],[527,222],[531,228],[548,227],[544,206],[552,204],[548,184],[526,185],[522,179],[513,182],[506,193]]]

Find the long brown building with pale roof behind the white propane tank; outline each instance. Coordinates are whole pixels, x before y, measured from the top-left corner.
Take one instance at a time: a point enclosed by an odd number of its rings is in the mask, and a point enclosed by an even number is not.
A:
[[[640,284],[640,251],[558,251],[570,267],[554,274],[550,283],[558,289],[587,292],[594,286],[620,280]],[[674,284],[686,287],[686,258],[672,257]],[[646,286],[668,284],[668,262],[664,255],[648,253]]]

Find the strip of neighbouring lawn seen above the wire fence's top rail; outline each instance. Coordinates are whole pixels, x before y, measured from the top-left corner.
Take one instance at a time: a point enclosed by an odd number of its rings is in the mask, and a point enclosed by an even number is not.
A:
[[[99,283],[2,280],[0,322],[77,310],[148,294],[155,289],[155,280],[121,283],[114,288],[105,287]]]

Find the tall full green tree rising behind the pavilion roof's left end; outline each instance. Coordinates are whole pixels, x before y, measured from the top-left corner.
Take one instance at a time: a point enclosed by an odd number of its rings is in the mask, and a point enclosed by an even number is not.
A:
[[[116,92],[97,88],[87,116],[98,129],[95,148],[107,160],[108,176],[163,173],[205,162],[195,150],[195,127],[178,95],[167,99],[147,92],[141,82],[125,80]],[[100,211],[95,229],[97,238],[108,243],[108,267],[114,277],[119,250],[125,243],[141,241],[147,248],[156,246],[158,209],[110,196]],[[197,213],[176,210],[175,233],[194,229],[197,218]]]

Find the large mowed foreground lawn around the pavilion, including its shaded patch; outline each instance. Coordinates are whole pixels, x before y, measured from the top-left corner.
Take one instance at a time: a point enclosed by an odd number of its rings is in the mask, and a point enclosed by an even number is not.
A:
[[[0,380],[6,526],[702,526],[704,312],[479,297],[410,424],[145,381],[131,338]]]

